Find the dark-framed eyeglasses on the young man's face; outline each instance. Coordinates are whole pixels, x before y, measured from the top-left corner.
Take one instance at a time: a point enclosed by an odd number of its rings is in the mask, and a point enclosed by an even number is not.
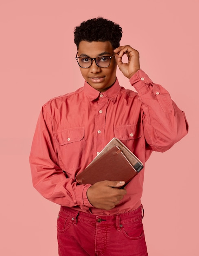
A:
[[[114,56],[114,54],[112,54],[112,56],[100,56],[100,57],[96,57],[96,58],[90,58],[87,56],[77,57],[77,54],[76,54],[75,58],[77,60],[78,65],[82,68],[91,67],[93,61],[95,61],[96,65],[98,67],[109,67],[109,65],[111,63],[111,59]]]

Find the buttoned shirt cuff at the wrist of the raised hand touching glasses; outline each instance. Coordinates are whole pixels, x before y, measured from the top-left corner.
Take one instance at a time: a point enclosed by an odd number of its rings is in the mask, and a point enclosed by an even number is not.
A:
[[[137,92],[145,85],[153,83],[149,76],[147,76],[147,74],[144,73],[143,70],[138,70],[135,74],[133,74],[133,76],[131,76],[129,81],[131,85],[134,86]]]

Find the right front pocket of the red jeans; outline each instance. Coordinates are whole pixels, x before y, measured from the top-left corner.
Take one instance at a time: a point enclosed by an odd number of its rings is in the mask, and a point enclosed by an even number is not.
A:
[[[121,223],[122,224],[122,223]],[[144,229],[142,225],[142,216],[136,220],[132,220],[122,224],[122,232],[125,237],[137,240],[144,236]]]

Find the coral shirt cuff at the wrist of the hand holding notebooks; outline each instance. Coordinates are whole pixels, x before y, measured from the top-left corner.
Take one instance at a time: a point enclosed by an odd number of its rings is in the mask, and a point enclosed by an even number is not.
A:
[[[90,188],[90,186],[92,185],[85,184],[85,185],[76,186],[75,198],[76,198],[77,204],[82,209],[93,207],[87,198],[87,189]]]

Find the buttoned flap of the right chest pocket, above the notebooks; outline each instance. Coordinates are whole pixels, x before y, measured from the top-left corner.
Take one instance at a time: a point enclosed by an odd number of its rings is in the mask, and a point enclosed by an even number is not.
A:
[[[141,124],[115,126],[114,134],[120,140],[138,139],[142,136]]]

